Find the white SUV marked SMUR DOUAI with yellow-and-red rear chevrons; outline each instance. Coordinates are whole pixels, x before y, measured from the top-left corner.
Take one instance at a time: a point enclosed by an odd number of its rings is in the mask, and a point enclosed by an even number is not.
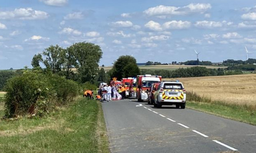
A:
[[[186,91],[179,81],[160,83],[154,96],[154,107],[161,108],[162,105],[176,105],[176,108],[185,109]]]

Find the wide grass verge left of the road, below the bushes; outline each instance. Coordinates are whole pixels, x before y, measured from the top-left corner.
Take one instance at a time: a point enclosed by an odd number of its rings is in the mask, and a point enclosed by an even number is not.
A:
[[[0,104],[3,116],[3,104]],[[1,152],[109,152],[99,102],[79,98],[44,118],[0,121]]]

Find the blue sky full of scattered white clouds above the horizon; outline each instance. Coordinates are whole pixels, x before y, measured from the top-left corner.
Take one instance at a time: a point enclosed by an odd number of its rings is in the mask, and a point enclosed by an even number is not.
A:
[[[99,45],[99,65],[256,58],[255,0],[0,0],[0,69],[31,68],[50,45]]]

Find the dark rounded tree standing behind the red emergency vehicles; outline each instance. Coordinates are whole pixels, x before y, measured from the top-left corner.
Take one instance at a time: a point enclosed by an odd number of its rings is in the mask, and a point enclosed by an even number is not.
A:
[[[120,56],[113,66],[113,72],[111,77],[115,77],[118,80],[127,77],[134,77],[139,74],[139,68],[136,64],[136,59],[132,56],[125,55]]]

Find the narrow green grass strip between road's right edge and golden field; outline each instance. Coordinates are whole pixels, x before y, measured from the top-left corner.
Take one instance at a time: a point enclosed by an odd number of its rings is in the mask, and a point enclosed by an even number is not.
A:
[[[187,108],[203,111],[214,114],[219,117],[232,119],[240,122],[256,125],[256,111],[248,110],[247,107],[228,105],[223,103],[202,103],[195,101],[188,101]]]

